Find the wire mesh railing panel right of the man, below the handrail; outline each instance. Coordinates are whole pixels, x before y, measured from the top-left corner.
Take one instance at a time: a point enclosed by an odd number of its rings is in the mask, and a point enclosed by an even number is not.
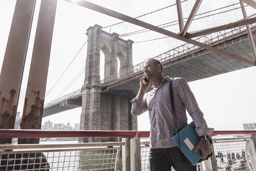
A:
[[[248,155],[248,142],[249,140],[214,142],[218,170],[253,170]]]

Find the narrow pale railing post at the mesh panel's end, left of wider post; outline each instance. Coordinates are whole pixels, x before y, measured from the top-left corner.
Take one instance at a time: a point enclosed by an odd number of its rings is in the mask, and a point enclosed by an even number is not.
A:
[[[122,142],[125,142],[125,145],[122,146],[122,166],[123,166],[123,171],[129,171],[129,170],[131,170],[130,138],[122,138]]]

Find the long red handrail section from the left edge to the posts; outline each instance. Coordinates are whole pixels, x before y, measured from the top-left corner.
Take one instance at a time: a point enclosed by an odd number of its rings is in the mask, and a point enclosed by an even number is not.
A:
[[[136,137],[136,131],[0,129],[0,138]]]

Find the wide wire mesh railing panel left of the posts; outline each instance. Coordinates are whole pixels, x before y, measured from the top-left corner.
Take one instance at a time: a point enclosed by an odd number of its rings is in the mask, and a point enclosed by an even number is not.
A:
[[[117,170],[120,147],[0,152],[0,170]]]

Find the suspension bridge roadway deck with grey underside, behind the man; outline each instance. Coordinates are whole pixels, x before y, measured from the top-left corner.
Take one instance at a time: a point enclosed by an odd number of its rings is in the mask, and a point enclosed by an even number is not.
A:
[[[255,27],[252,29],[252,34],[254,42],[256,42]],[[223,51],[227,51],[251,61],[254,60],[247,32],[215,41],[212,45]],[[188,82],[251,67],[249,64],[239,62],[236,59],[212,51],[207,51],[202,48],[197,48],[196,50],[180,54],[174,58],[165,60],[165,62],[162,63],[164,75],[170,77],[182,77]],[[130,99],[135,97],[139,90],[139,80],[143,75],[143,71],[140,69],[131,73],[130,76],[115,82],[102,83],[102,93],[128,97]],[[81,90],[78,90],[46,104],[43,117],[80,107],[81,104]]]

